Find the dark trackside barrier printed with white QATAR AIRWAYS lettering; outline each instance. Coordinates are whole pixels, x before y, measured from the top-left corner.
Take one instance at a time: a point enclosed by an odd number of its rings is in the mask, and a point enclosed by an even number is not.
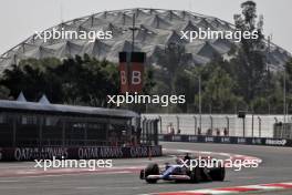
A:
[[[0,161],[33,161],[71,158],[131,158],[161,156],[160,145],[156,146],[94,146],[94,147],[0,147]]]

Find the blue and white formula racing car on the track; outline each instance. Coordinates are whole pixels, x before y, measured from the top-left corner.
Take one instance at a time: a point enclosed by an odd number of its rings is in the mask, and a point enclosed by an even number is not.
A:
[[[192,158],[189,161],[198,161]],[[223,181],[226,176],[226,170],[222,165],[216,167],[200,167],[196,166],[190,168],[184,166],[180,163],[166,164],[163,171],[159,171],[159,166],[156,163],[148,164],[148,166],[140,171],[140,179],[145,179],[149,184],[157,183],[158,179],[175,181],[175,182],[211,182]]]

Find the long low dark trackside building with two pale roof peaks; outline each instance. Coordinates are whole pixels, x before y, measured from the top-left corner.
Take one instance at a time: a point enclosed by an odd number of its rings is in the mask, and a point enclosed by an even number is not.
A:
[[[117,146],[137,136],[138,117],[127,110],[51,104],[45,95],[27,102],[21,94],[0,100],[0,147]]]

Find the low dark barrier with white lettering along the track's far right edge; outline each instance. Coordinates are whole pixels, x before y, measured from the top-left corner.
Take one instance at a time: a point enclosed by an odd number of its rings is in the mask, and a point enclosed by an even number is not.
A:
[[[241,136],[206,136],[206,135],[169,135],[159,134],[159,141],[164,142],[192,142],[192,143],[220,143],[220,144],[246,144],[267,146],[292,147],[292,140],[267,138],[267,137],[241,137]]]

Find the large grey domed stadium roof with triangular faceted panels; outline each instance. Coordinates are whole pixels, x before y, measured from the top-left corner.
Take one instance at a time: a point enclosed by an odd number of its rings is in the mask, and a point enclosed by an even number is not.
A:
[[[230,40],[196,40],[194,42],[180,39],[181,30],[197,31],[198,28],[211,30],[232,31],[234,25],[215,17],[202,16],[190,11],[160,10],[160,9],[125,9],[104,11],[87,17],[76,18],[62,22],[45,31],[55,29],[74,31],[108,31],[113,32],[111,40],[49,40],[44,42],[35,34],[31,35],[17,47],[7,51],[0,57],[0,72],[9,69],[11,64],[22,59],[43,59],[55,57],[59,59],[83,55],[84,53],[96,59],[106,58],[108,61],[117,62],[118,52],[131,51],[133,13],[136,17],[135,50],[147,53],[147,60],[155,63],[157,53],[164,52],[165,47],[170,43],[184,44],[190,53],[190,63],[205,64],[210,61],[213,54],[228,58],[228,51],[233,44]],[[282,66],[291,54],[280,47],[271,43],[265,44],[271,69]]]

